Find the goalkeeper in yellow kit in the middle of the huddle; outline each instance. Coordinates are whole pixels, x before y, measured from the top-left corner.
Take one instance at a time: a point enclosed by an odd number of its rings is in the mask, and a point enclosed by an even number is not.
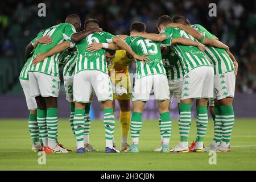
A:
[[[107,49],[106,60],[110,80],[112,81],[113,99],[118,101],[120,106],[119,120],[121,123],[121,151],[127,150],[127,135],[130,129],[131,108],[130,100],[132,97],[131,81],[129,75],[129,64],[133,61],[124,50],[112,51]],[[113,105],[115,102],[113,102]],[[114,107],[114,106],[113,106]],[[115,108],[115,107],[114,107]],[[115,142],[114,142],[115,143]]]

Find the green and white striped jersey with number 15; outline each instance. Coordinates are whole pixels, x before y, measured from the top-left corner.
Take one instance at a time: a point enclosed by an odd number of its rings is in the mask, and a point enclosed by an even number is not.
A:
[[[144,64],[140,60],[136,61],[136,79],[148,75],[166,75],[159,42],[131,36],[128,36],[125,41],[137,55],[147,54],[150,59],[149,62],[145,61]]]

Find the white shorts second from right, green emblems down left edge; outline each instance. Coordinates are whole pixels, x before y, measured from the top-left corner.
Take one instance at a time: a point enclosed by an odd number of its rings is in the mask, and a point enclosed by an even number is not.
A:
[[[187,98],[213,98],[212,67],[201,66],[186,73],[181,88],[181,100]]]

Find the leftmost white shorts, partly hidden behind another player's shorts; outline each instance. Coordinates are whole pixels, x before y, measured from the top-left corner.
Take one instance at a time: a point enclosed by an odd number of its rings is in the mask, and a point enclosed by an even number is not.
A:
[[[38,106],[36,105],[35,97],[31,97],[31,94],[30,94],[30,81],[19,79],[19,82],[25,94],[27,109],[36,110]]]

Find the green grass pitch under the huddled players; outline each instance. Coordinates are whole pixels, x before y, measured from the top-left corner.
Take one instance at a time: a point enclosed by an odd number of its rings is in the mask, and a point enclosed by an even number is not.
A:
[[[120,125],[116,122],[115,140],[119,146]],[[0,170],[255,170],[256,169],[256,121],[236,119],[232,135],[232,152],[217,153],[217,164],[209,164],[209,154],[162,154],[152,151],[159,145],[157,121],[143,121],[138,154],[105,154],[104,126],[93,121],[90,143],[100,152],[85,154],[47,154],[46,165],[38,164],[38,154],[31,151],[26,119],[0,120]],[[189,142],[196,137],[195,121],[192,122]],[[210,119],[205,138],[208,145],[213,139],[213,122]],[[177,121],[172,122],[170,146],[179,140]],[[75,149],[68,119],[59,119],[59,141],[65,147]],[[129,142],[131,141],[129,137]]]

